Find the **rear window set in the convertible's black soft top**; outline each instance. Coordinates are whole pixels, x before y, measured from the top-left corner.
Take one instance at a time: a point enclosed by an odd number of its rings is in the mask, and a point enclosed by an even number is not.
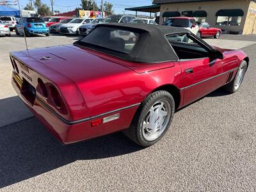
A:
[[[94,29],[81,42],[129,54],[137,44],[140,34],[124,29],[100,27]]]

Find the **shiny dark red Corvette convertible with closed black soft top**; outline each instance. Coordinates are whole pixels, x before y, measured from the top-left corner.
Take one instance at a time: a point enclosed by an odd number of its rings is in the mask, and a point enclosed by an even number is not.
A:
[[[148,147],[176,109],[239,89],[249,59],[183,28],[98,24],[73,45],[11,52],[12,85],[62,143],[123,131]]]

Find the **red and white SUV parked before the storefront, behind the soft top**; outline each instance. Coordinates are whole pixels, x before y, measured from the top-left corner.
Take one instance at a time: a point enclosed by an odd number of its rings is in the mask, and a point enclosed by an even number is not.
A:
[[[188,29],[195,35],[197,35],[199,31],[199,26],[196,24],[196,20],[193,17],[172,17],[166,20],[164,25]]]

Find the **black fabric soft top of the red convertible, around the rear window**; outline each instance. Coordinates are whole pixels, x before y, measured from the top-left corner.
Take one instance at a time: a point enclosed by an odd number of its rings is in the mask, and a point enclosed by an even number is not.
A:
[[[104,30],[104,28],[117,28],[120,30],[131,31],[140,34],[138,42],[130,52],[119,52],[109,49],[104,49],[104,47],[99,47],[93,44],[87,44],[86,39],[90,38],[90,33],[85,38],[77,41],[74,45],[80,45],[87,47],[89,49],[97,50],[100,52],[105,52],[118,58],[122,58],[127,61],[141,62],[141,63],[159,63],[164,61],[177,61],[177,55],[172,49],[172,46],[166,40],[165,36],[172,33],[190,33],[189,30],[184,28],[176,28],[171,26],[161,26],[161,25],[150,25],[150,24],[97,24],[94,30]],[[93,38],[95,38],[93,36]],[[97,38],[102,38],[97,36]]]

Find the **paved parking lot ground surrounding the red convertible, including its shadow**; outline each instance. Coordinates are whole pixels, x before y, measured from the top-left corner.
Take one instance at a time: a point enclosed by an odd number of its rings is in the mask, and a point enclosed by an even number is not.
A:
[[[118,132],[63,146],[36,120],[11,84],[8,52],[25,49],[0,37],[0,191],[255,191],[256,36],[206,38],[250,57],[239,92],[216,90],[175,113],[156,145],[141,148]],[[79,36],[34,36],[29,48],[72,44]]]

